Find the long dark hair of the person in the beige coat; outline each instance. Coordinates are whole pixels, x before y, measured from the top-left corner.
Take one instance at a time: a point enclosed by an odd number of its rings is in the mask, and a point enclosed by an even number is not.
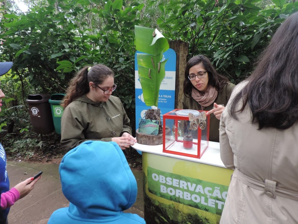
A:
[[[237,119],[248,104],[252,122],[264,127],[286,129],[298,119],[298,12],[277,29],[260,56],[248,84],[231,103],[229,113]],[[237,109],[238,102],[243,104]]]

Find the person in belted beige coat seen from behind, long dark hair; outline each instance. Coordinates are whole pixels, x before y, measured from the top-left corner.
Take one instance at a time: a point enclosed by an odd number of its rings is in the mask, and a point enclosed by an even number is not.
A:
[[[235,171],[221,224],[298,223],[298,12],[278,28],[221,115],[221,159]]]

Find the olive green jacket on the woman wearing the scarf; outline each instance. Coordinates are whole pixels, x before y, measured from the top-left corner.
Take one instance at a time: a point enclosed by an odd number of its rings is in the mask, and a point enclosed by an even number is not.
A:
[[[226,83],[223,90],[218,93],[214,103],[218,105],[226,106],[232,90],[234,89],[235,85],[231,82]],[[193,99],[193,97],[183,97],[183,109],[191,109],[197,111],[210,111],[213,109],[213,103],[208,107],[203,107]],[[210,123],[209,123],[209,141],[212,142],[219,142],[219,119],[215,117],[214,114],[210,114]]]

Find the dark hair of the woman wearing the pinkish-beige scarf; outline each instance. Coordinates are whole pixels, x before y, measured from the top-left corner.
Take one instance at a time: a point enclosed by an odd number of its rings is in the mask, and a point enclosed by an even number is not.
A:
[[[207,58],[205,55],[200,54],[200,55],[194,56],[188,60],[185,68],[185,73],[184,73],[183,93],[187,97],[191,96],[191,90],[192,88],[194,88],[193,84],[187,78],[187,76],[189,76],[189,70],[191,67],[198,65],[200,63],[202,63],[204,69],[208,71],[209,85],[214,86],[218,92],[220,92],[223,89],[225,83],[229,82],[229,79],[227,79],[225,76],[218,74],[218,72],[211,64],[209,58]]]

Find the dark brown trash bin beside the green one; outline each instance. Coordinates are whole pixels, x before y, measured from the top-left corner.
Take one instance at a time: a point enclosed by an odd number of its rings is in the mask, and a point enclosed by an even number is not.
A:
[[[33,131],[37,134],[49,134],[54,131],[49,98],[49,94],[30,94],[26,100]]]

